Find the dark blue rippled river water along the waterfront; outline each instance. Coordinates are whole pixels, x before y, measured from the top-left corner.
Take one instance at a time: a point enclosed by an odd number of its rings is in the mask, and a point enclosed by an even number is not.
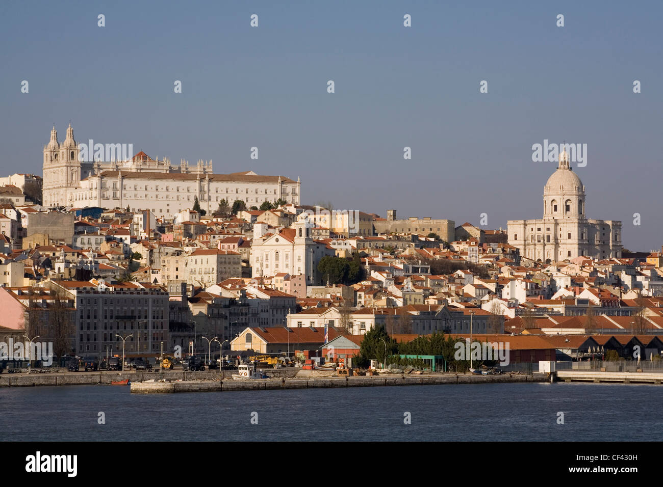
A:
[[[145,395],[127,386],[19,387],[0,389],[0,428],[9,441],[654,441],[662,399],[661,386],[631,384]]]

